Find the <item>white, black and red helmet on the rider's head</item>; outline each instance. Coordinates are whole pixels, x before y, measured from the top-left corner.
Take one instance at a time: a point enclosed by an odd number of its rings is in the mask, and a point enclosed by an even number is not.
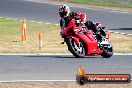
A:
[[[61,18],[65,17],[65,16],[68,16],[70,13],[70,9],[67,5],[61,5],[59,7],[59,15]]]

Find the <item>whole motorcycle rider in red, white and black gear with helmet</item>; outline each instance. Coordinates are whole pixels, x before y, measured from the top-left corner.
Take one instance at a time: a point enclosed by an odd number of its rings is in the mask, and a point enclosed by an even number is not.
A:
[[[72,18],[74,18],[76,26],[82,26],[82,27],[85,26],[87,27],[87,29],[85,28],[86,31],[92,30],[95,33],[95,35],[98,35],[97,31],[98,31],[98,28],[101,27],[101,24],[99,22],[95,23],[92,21],[86,21],[85,13],[80,13],[80,12],[70,13],[70,8],[67,5],[61,5],[59,7],[59,15],[61,17],[61,20],[60,20],[61,29],[64,29],[68,25],[69,21],[71,21]]]

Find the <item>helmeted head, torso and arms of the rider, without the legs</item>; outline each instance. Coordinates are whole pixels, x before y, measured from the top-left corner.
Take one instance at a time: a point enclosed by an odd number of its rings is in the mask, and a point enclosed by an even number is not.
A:
[[[76,26],[80,26],[81,24],[84,24],[86,22],[86,14],[85,13],[80,13],[80,12],[71,12],[70,9],[67,5],[61,5],[59,7],[59,15],[61,17],[60,20],[60,26],[61,28],[65,28],[67,25],[67,20],[68,19],[75,19]]]

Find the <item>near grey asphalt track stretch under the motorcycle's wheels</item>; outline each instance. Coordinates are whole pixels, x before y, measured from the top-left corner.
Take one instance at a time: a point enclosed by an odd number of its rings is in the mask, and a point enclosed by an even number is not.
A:
[[[132,55],[109,59],[100,56],[74,58],[71,55],[1,55],[0,81],[12,80],[75,80],[77,67],[87,73],[129,73]]]

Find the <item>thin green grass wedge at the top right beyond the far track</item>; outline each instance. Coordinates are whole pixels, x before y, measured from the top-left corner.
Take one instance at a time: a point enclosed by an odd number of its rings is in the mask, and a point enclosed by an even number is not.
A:
[[[54,0],[108,7],[132,8],[132,0]]]

